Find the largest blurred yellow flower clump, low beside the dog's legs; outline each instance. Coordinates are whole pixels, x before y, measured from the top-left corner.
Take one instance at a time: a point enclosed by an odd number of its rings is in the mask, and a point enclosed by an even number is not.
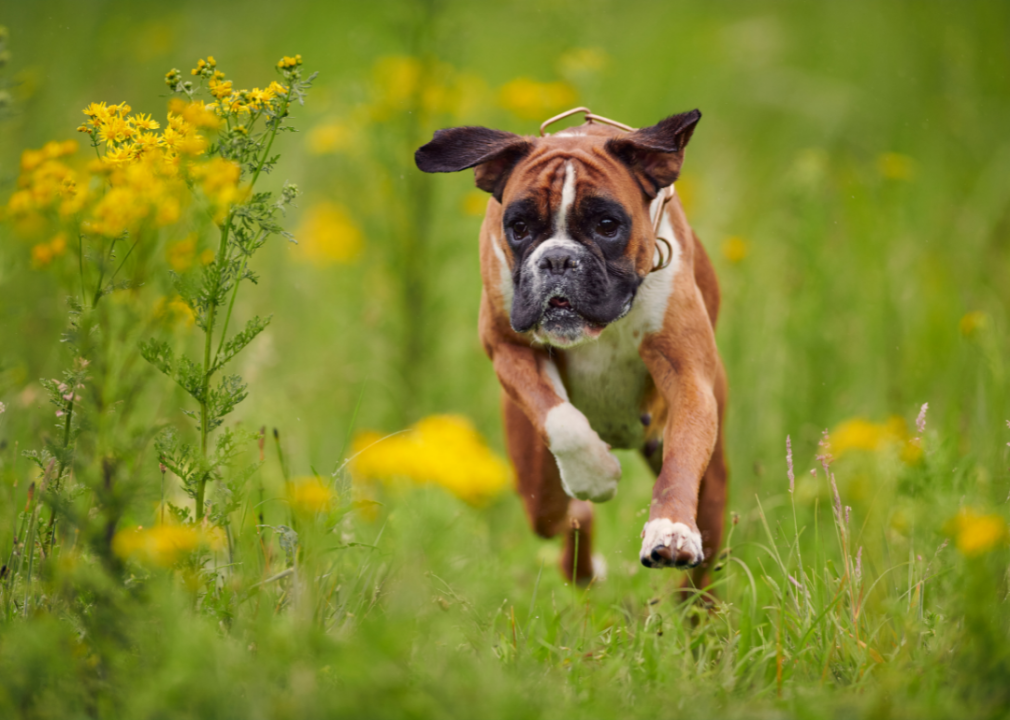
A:
[[[510,483],[508,462],[495,454],[470,422],[433,415],[410,431],[385,439],[361,432],[354,442],[351,474],[357,482],[407,479],[433,483],[471,505],[480,506]]]

